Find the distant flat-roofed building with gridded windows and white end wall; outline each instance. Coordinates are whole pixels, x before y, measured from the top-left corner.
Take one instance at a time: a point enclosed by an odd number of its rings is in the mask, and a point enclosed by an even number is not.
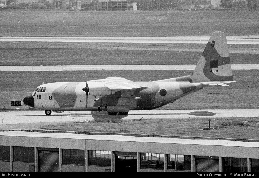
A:
[[[102,11],[136,11],[137,5],[127,0],[98,0],[99,9]]]

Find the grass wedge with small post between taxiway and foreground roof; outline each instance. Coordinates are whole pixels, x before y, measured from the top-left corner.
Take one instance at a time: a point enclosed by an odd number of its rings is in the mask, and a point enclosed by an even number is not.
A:
[[[213,138],[239,138],[259,139],[259,118],[213,118],[211,128],[208,127],[208,118],[188,119],[159,119],[159,120],[119,120],[96,122],[90,121],[59,123],[44,125],[41,129],[85,131],[85,132],[111,132],[111,133],[135,133],[171,136],[193,136]]]

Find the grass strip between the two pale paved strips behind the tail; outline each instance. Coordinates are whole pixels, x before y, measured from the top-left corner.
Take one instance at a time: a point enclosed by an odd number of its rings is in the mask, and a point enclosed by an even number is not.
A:
[[[0,65],[197,64],[206,46],[205,44],[64,42],[1,44]],[[228,46],[232,64],[258,64],[258,45]]]

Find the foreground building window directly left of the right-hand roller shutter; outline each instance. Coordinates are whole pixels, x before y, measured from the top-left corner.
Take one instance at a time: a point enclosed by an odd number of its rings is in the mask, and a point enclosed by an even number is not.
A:
[[[191,156],[181,154],[168,155],[168,169],[174,170],[191,170]]]

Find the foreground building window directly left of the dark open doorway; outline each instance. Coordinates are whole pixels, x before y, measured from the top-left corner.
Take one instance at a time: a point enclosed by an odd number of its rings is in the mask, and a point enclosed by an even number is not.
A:
[[[111,152],[110,151],[89,151],[89,165],[94,166],[111,166]]]

